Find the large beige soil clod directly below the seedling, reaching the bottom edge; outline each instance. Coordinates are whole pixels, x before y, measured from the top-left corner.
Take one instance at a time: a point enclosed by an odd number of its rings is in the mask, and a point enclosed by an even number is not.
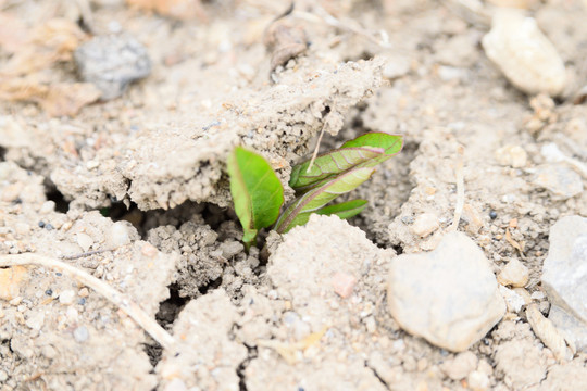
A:
[[[329,239],[324,241],[325,237]],[[364,354],[377,350],[377,325],[366,314],[383,293],[383,279],[377,287],[365,283],[367,275],[380,273],[391,255],[336,216],[312,215],[305,226],[285,235],[267,266],[276,289],[266,294],[276,294],[278,300],[248,294],[242,301],[247,310],[237,336],[246,332],[259,352],[245,370],[247,388],[385,390],[362,354],[350,346],[364,349]],[[333,286],[339,273],[358,280],[346,298]],[[363,313],[371,320],[361,319]],[[265,318],[275,319],[274,325],[267,328]],[[257,340],[251,336],[254,332]],[[370,332],[373,345],[358,342],[363,332]]]

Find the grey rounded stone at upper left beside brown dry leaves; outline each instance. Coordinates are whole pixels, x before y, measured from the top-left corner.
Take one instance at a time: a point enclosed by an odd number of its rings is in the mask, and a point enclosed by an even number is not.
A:
[[[98,36],[74,53],[79,75],[102,91],[102,100],[123,94],[126,87],[151,72],[147,48],[129,34]]]

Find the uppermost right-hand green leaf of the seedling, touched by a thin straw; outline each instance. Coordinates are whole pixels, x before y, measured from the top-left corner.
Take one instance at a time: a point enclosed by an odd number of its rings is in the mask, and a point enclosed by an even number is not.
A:
[[[341,148],[317,156],[310,169],[310,161],[296,165],[289,186],[301,193],[320,186],[324,179],[335,177],[354,167],[374,167],[398,153],[403,137],[375,131],[347,141]]]

